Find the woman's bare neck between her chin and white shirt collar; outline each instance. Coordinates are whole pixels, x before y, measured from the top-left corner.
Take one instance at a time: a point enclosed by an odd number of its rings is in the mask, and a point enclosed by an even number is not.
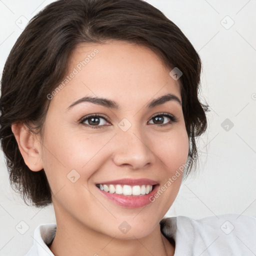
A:
[[[174,254],[174,246],[161,234],[160,225],[142,238],[117,239],[84,226],[81,222],[56,214],[56,234],[49,246],[55,256],[130,256]]]

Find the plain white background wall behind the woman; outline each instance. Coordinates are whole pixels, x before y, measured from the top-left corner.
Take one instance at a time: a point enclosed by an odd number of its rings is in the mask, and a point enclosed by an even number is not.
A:
[[[50,2],[0,0],[1,72],[27,20]],[[181,185],[166,215],[256,217],[256,0],[147,2],[163,11],[198,51],[201,95],[211,109],[207,132],[198,141],[200,164]],[[1,152],[0,255],[24,255],[32,245],[34,228],[54,221],[52,206],[28,207],[11,190]],[[23,234],[16,229],[20,225]]]

